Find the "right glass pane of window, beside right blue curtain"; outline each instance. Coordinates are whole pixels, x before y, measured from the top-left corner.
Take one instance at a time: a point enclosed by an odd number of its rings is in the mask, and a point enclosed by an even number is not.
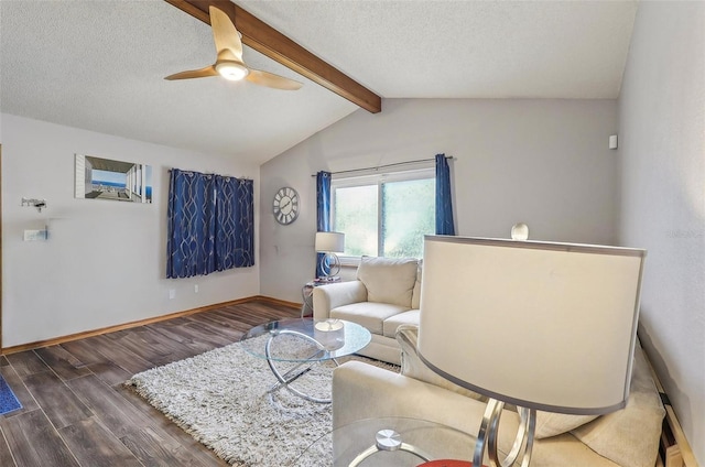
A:
[[[423,257],[423,236],[435,232],[435,180],[382,185],[382,251],[391,258]]]

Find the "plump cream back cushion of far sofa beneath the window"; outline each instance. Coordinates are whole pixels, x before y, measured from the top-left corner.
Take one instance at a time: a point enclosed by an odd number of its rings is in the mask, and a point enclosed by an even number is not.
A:
[[[362,257],[357,279],[367,287],[367,300],[411,308],[419,260]]]

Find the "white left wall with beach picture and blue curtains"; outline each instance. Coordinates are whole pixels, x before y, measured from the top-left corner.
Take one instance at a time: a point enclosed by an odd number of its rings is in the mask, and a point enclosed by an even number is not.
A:
[[[3,347],[259,293],[258,265],[165,279],[167,170],[245,175],[257,187],[258,166],[10,115],[1,121]],[[76,199],[75,153],[152,165],[153,204]],[[48,208],[21,207],[22,197]],[[256,191],[256,206],[258,198]],[[47,241],[22,240],[44,225]]]

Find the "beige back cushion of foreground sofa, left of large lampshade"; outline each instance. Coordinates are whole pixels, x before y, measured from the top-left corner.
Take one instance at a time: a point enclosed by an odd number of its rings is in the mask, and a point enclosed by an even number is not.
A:
[[[417,338],[419,326],[401,325],[397,329],[397,341],[401,346],[401,373],[403,376],[447,389],[448,391],[453,391],[478,401],[487,400],[487,398],[478,394],[477,392],[473,392],[469,389],[465,389],[448,381],[429,368],[426,363],[421,360],[419,352],[416,351]]]

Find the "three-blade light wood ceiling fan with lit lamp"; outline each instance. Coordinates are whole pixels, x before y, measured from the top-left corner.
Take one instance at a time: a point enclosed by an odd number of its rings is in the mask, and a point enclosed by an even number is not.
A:
[[[256,85],[284,90],[296,90],[303,86],[302,83],[294,79],[248,67],[245,62],[242,62],[240,33],[235,28],[235,24],[232,24],[232,21],[230,21],[230,17],[216,7],[209,7],[209,12],[213,39],[216,43],[216,50],[218,51],[216,63],[205,68],[176,73],[164,79],[206,78],[208,76],[220,75],[234,82],[247,79]]]

